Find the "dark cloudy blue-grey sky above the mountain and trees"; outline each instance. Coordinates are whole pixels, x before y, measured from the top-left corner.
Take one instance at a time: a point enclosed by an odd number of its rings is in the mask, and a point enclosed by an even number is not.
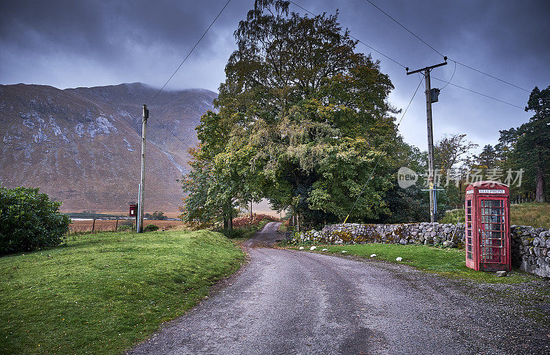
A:
[[[550,84],[550,1],[373,0],[445,56],[531,91]],[[47,84],[61,89],[121,82],[162,86],[195,44],[225,0],[203,1],[0,1],[0,83]],[[217,91],[234,50],[232,32],[253,0],[232,0],[170,89]],[[442,58],[364,0],[296,0],[311,12],[340,9],[351,34],[411,69]],[[303,10],[291,4],[291,9]],[[371,52],[364,45],[358,51]],[[405,108],[420,78],[382,60],[395,90],[390,100]],[[449,79],[454,63],[434,69]],[[452,83],[524,107],[529,93],[456,66]],[[443,87],[432,80],[432,87]],[[519,126],[531,113],[448,85],[434,109],[434,137],[466,133],[474,143],[494,144],[498,130]],[[426,149],[423,87],[401,124],[410,144]]]

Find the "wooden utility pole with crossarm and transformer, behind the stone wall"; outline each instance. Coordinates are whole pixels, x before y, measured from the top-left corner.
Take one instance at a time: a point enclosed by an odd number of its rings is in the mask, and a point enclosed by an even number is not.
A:
[[[426,122],[428,126],[428,188],[430,192],[430,222],[435,222],[436,218],[436,186],[434,181],[434,133],[432,126],[432,102],[437,102],[439,95],[439,89],[431,88],[430,84],[430,70],[447,65],[447,57],[443,57],[445,62],[439,63],[437,65],[432,65],[431,67],[426,67],[422,69],[417,69],[414,71],[408,71],[406,68],[407,75],[414,73],[421,73],[423,71],[424,80],[426,81]]]

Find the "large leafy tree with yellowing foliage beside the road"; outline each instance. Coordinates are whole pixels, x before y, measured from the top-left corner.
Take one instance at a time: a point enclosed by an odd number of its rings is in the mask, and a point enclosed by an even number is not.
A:
[[[342,220],[378,161],[351,215],[375,218],[387,211],[384,192],[403,150],[387,102],[391,81],[355,51],[338,13],[300,16],[288,7],[256,0],[239,23],[214,102],[219,112],[197,128],[197,161],[212,165],[217,182],[208,184],[224,198],[267,197],[302,225]],[[190,196],[207,190],[214,189]]]

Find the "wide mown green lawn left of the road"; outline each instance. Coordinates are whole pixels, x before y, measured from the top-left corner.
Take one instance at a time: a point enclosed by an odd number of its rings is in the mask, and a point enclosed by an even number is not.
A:
[[[120,353],[243,260],[212,231],[88,234],[0,257],[0,353]]]

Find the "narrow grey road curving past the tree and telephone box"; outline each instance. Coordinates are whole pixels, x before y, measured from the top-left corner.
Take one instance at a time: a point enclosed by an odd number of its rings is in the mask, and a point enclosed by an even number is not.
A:
[[[246,243],[250,264],[210,299],[130,353],[549,353],[548,329],[508,304],[472,297],[478,286],[397,264],[266,248],[282,238],[277,228],[271,222]]]

